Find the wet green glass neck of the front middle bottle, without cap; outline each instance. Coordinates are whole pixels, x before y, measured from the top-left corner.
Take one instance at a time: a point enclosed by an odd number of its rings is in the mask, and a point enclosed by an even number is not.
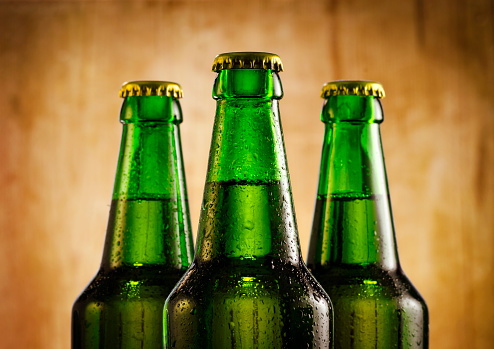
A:
[[[223,70],[213,97],[217,108],[196,261],[298,264],[277,73]]]

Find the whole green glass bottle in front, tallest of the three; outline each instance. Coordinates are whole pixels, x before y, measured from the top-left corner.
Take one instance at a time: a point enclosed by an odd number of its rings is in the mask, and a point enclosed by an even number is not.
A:
[[[216,57],[217,101],[192,266],[165,305],[165,348],[330,348],[331,302],[306,268],[285,158],[277,55]]]

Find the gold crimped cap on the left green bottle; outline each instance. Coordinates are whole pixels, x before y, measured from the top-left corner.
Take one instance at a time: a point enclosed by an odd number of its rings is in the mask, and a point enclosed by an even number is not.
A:
[[[129,81],[122,85],[119,96],[166,96],[182,98],[183,91],[179,84],[169,81]]]

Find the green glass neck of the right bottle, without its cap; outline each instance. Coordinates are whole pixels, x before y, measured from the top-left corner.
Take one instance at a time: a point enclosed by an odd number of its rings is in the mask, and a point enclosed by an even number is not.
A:
[[[325,101],[316,212],[308,264],[312,268],[399,266],[379,124],[372,96]]]

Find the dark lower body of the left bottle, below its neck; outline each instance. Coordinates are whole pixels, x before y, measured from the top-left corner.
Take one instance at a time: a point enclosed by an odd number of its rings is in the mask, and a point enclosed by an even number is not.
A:
[[[120,270],[91,281],[72,309],[72,349],[163,346],[163,306],[183,271]]]

